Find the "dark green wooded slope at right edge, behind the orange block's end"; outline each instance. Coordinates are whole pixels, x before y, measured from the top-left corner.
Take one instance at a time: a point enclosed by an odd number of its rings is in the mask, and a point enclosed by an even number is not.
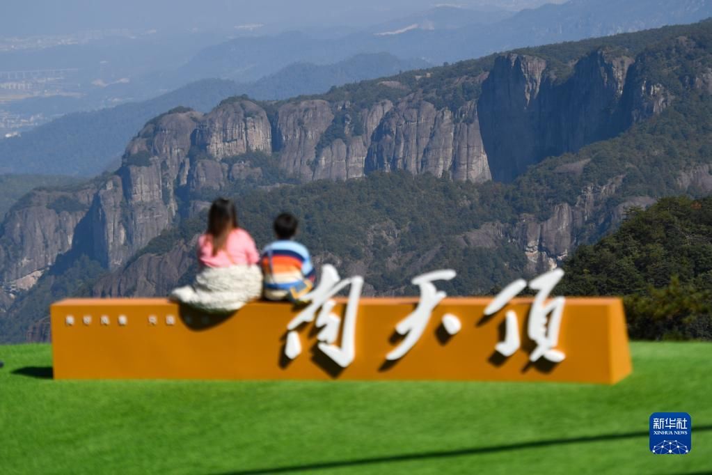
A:
[[[712,340],[712,197],[632,209],[620,229],[580,246],[557,291],[624,296],[629,333]]]

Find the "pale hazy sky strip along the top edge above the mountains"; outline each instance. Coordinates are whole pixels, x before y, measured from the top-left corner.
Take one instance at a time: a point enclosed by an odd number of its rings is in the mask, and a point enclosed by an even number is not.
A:
[[[129,29],[162,33],[234,31],[244,33],[318,26],[361,28],[435,6],[520,10],[565,0],[9,0],[0,6],[0,37],[70,34]]]

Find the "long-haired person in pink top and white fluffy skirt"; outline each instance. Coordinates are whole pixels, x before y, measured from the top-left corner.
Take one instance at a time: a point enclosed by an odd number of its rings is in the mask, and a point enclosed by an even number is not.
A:
[[[255,241],[237,220],[229,199],[216,199],[208,229],[198,239],[200,270],[194,283],[176,288],[171,298],[206,312],[231,312],[262,292],[262,273]]]

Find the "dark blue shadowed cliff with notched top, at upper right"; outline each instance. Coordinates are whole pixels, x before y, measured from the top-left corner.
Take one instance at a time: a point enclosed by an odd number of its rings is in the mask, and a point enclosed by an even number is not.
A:
[[[478,113],[493,178],[511,181],[551,155],[622,132],[623,104],[632,58],[594,51],[557,80],[532,56],[497,58],[483,83]]]

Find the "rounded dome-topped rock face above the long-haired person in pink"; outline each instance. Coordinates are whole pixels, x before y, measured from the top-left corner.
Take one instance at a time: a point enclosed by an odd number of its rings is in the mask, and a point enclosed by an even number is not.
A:
[[[249,100],[226,100],[201,120],[194,143],[217,159],[272,152],[272,127],[263,108]]]

